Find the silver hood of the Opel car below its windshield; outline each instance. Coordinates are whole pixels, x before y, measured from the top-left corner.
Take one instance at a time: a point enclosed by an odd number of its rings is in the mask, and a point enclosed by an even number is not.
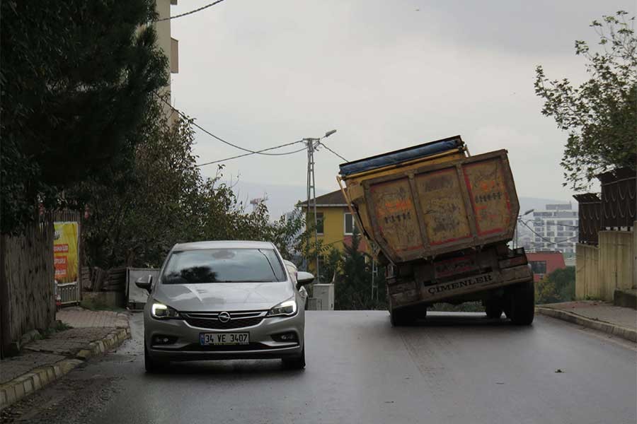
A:
[[[289,281],[274,283],[160,284],[155,300],[183,312],[269,310],[292,298]]]

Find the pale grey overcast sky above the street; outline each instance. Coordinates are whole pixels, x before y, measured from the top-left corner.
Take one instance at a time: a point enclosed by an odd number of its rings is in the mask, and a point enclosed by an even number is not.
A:
[[[180,0],[176,15],[211,0]],[[566,134],[541,115],[534,69],[585,78],[574,40],[634,0],[226,0],[172,22],[173,105],[214,134],[258,150],[338,132],[348,160],[460,134],[472,154],[509,151],[519,196],[571,200],[559,161]],[[299,146],[302,147],[302,146]],[[241,154],[202,133],[201,162]],[[317,186],[343,162],[316,153]],[[212,175],[216,165],[203,167]],[[226,177],[303,186],[306,155],[253,155]]]

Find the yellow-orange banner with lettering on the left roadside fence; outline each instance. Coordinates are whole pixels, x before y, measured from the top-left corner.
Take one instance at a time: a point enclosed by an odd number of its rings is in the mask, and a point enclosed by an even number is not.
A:
[[[58,283],[77,281],[77,223],[54,223],[53,264]]]

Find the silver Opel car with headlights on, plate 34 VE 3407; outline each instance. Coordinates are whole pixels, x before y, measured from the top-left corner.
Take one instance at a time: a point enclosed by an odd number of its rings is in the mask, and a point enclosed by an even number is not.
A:
[[[292,276],[269,242],[175,245],[158,281],[139,278],[144,308],[144,363],[171,360],[282,358],[305,367],[304,305],[314,276]],[[296,283],[295,283],[296,281]]]

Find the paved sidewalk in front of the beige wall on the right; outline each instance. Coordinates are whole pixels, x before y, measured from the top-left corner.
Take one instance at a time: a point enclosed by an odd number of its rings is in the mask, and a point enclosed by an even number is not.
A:
[[[536,311],[626,340],[637,341],[637,310],[629,307],[614,306],[610,302],[583,300],[537,305]]]

